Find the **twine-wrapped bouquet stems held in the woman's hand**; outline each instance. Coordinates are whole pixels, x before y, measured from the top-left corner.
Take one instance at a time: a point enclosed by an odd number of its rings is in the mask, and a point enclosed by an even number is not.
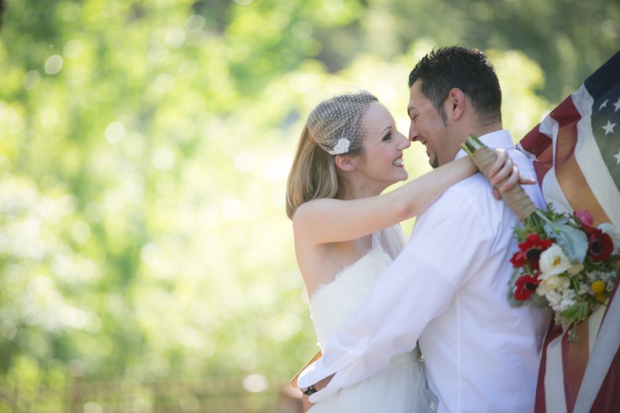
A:
[[[478,137],[473,134],[467,138],[462,147],[470,155],[474,165],[488,178],[488,171],[497,159],[495,152],[484,145],[484,143],[480,142]],[[495,187],[501,187],[506,180],[508,180],[508,177],[504,178],[502,182],[495,184]],[[516,184],[514,187],[508,189],[508,191],[502,193],[502,198],[504,198],[508,207],[517,215],[520,222],[524,222],[526,218],[536,211],[536,206],[520,184]]]

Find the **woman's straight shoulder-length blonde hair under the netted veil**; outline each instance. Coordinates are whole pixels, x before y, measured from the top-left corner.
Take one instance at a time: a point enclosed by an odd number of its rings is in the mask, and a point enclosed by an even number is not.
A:
[[[304,202],[338,198],[342,185],[334,156],[328,151],[344,136],[353,142],[347,155],[362,153],[362,115],[377,101],[368,92],[343,94],[313,109],[302,130],[287,182],[287,215],[291,220]]]

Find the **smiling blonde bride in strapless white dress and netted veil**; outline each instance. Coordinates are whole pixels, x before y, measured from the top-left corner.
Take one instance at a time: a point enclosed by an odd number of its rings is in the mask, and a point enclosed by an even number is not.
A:
[[[364,310],[375,279],[404,247],[398,223],[420,215],[448,187],[477,171],[462,158],[380,195],[406,180],[402,151],[409,145],[388,110],[367,92],[325,100],[307,119],[289,173],[287,215],[320,348]],[[492,173],[495,180],[510,176],[503,187],[508,189],[519,174],[505,151],[497,153]],[[431,412],[436,407],[415,348],[309,412]]]

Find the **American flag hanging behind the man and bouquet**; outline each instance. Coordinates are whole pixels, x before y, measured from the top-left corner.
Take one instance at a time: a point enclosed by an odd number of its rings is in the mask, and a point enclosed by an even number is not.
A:
[[[586,79],[517,146],[534,158],[545,199],[558,211],[572,213],[587,209],[595,225],[611,222],[620,228],[620,52]],[[605,323],[606,319],[614,318],[608,309],[617,289],[618,282],[608,305],[601,306],[577,326],[582,337],[579,341],[568,341],[568,334],[560,326],[553,326],[548,332],[542,352],[536,412],[575,410],[579,390],[582,385],[587,386],[583,383],[586,366],[590,357],[595,358],[592,350],[601,346],[597,343],[603,337],[601,331],[613,329],[614,340],[620,337],[620,323],[614,326]],[[592,412],[620,412],[617,341],[612,348],[615,351],[608,351],[605,356],[609,367],[601,372],[602,384],[595,391],[596,396],[592,396],[595,399]]]

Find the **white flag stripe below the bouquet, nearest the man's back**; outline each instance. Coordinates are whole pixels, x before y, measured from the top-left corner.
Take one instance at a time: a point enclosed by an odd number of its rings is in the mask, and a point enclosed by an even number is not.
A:
[[[545,372],[545,407],[547,413],[567,413],[564,396],[564,370],[562,363],[562,335],[547,347]]]

